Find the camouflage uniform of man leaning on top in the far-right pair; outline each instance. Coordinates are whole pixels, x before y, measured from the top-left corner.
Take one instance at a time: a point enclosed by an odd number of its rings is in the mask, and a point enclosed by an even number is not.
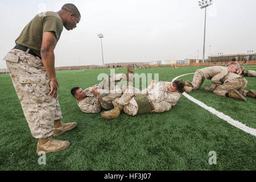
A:
[[[221,85],[220,80],[228,74],[228,71],[228,68],[220,66],[197,69],[192,81],[194,89],[200,89],[204,80],[211,80],[213,84]]]

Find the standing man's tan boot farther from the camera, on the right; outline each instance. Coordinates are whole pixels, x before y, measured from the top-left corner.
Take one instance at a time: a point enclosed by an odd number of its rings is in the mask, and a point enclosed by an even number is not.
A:
[[[59,137],[66,131],[70,131],[77,126],[76,122],[73,123],[63,123],[61,119],[55,120],[53,125],[53,136]]]

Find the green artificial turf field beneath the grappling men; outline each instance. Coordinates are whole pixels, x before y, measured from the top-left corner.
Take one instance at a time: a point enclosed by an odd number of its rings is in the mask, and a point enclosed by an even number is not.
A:
[[[159,80],[193,73],[203,67],[147,68],[135,73],[159,73]],[[246,69],[256,70],[255,65]],[[126,69],[115,69],[126,73]],[[63,122],[78,126],[56,139],[71,142],[66,150],[46,154],[46,165],[39,165],[37,139],[24,118],[11,79],[0,75],[0,170],[255,170],[256,137],[230,125],[184,96],[170,111],[131,117],[121,113],[113,120],[80,111],[71,88],[85,89],[97,84],[100,73],[109,69],[57,71],[59,102]],[[191,80],[193,75],[180,77]],[[154,77],[153,77],[154,78]],[[246,77],[246,90],[256,89],[256,78]],[[190,95],[206,105],[256,129],[254,98],[247,102],[216,96],[204,90]],[[217,164],[210,165],[210,151]]]

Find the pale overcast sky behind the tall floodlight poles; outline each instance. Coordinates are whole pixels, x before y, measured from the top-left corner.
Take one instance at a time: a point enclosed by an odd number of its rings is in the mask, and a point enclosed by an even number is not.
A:
[[[77,28],[65,28],[55,48],[55,66],[203,57],[204,9],[199,0],[0,0],[0,58],[15,46],[24,26],[42,11],[73,3],[81,13]],[[256,52],[256,1],[213,0],[207,8],[205,56]],[[211,46],[211,47],[210,47]],[[0,68],[5,68],[0,61]]]

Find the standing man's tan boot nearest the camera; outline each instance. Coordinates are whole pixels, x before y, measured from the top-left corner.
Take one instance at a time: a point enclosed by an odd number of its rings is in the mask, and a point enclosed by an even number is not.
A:
[[[56,140],[52,137],[39,138],[36,154],[38,154],[40,151],[44,151],[46,154],[49,152],[57,152],[68,148],[69,145],[70,143],[68,141]]]

